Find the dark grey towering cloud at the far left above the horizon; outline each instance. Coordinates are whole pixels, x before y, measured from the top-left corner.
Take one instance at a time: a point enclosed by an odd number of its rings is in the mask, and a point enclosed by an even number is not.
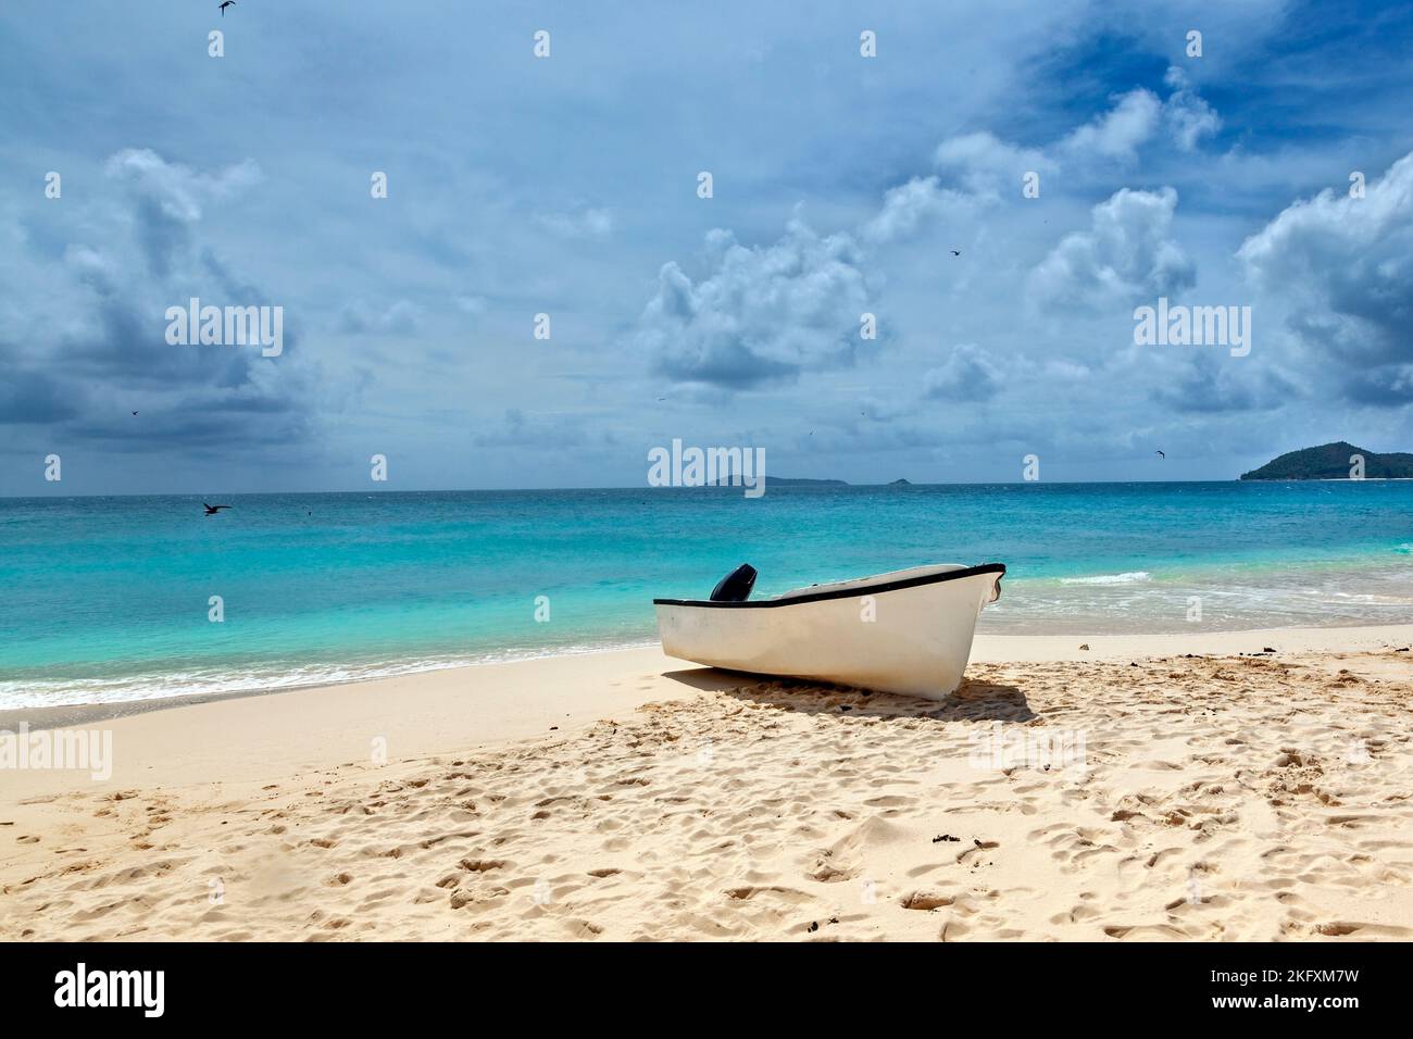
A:
[[[38,314],[27,321],[47,335],[28,344],[23,360],[4,360],[0,421],[123,452],[309,437],[309,386],[292,328],[284,329],[278,362],[259,345],[167,341],[168,307],[185,310],[192,297],[218,307],[278,305],[202,242],[202,206],[259,182],[259,171],[237,164],[208,174],[124,150],[105,172],[102,215],[72,232],[62,263],[16,257],[49,284],[62,324]]]

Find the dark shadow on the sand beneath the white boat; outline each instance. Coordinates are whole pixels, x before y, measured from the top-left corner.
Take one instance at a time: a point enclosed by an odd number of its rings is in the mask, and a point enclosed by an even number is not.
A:
[[[870,693],[803,679],[762,679],[757,674],[694,667],[664,676],[685,686],[723,693],[755,704],[781,707],[801,714],[852,715],[856,718],[933,718],[935,721],[1031,721],[1026,694],[1016,686],[981,679],[964,679],[947,700],[923,700],[893,693]]]

